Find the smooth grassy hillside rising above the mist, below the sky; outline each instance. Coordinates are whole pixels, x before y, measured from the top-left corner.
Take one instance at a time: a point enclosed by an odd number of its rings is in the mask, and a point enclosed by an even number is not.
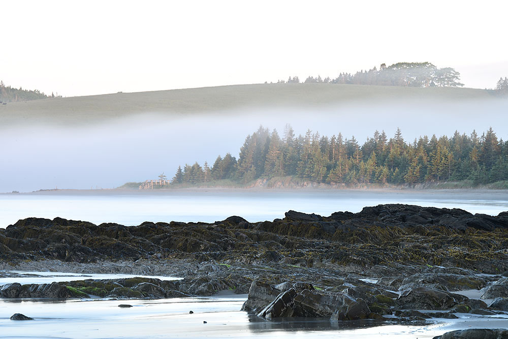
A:
[[[253,84],[87,97],[44,99],[0,106],[0,125],[42,121],[83,124],[140,113],[182,116],[190,113],[234,112],[248,107],[298,107],[383,100],[493,99],[488,90],[452,87],[397,87],[342,84]]]

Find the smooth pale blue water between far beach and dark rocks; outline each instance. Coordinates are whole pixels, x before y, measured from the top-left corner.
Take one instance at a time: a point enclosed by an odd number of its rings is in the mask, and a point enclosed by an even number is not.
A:
[[[57,191],[0,195],[0,227],[19,219],[40,217],[139,225],[153,222],[214,222],[240,215],[250,222],[283,218],[293,209],[330,215],[358,212],[364,206],[404,203],[457,207],[472,213],[496,215],[508,210],[508,191],[480,190],[172,190],[172,191]]]

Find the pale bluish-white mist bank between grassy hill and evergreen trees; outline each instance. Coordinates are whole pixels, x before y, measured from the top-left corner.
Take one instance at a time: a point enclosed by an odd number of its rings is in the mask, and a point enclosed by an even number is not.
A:
[[[282,136],[310,129],[342,133],[362,144],[375,130],[406,142],[423,135],[451,136],[457,130],[481,135],[492,127],[506,140],[507,100],[488,102],[385,103],[302,108],[249,108],[234,112],[168,117],[146,113],[86,127],[15,125],[0,128],[0,192],[39,189],[114,188],[128,181],[173,177],[178,165],[230,152],[237,157],[245,137],[260,125]]]

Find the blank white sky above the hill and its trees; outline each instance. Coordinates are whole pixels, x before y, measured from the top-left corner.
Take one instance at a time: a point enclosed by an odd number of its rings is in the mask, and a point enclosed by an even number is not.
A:
[[[81,96],[335,77],[399,61],[508,76],[506,1],[2,2],[0,79]]]

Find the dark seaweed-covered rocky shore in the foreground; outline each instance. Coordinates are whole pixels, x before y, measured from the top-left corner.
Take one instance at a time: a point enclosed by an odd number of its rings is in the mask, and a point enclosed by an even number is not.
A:
[[[0,294],[128,299],[230,290],[248,294],[243,310],[261,318],[332,322],[505,315],[507,235],[508,212],[492,217],[399,204],[329,217],[289,211],[260,223],[230,217],[125,227],[28,218],[0,230],[0,269],[183,279],[12,283]]]

